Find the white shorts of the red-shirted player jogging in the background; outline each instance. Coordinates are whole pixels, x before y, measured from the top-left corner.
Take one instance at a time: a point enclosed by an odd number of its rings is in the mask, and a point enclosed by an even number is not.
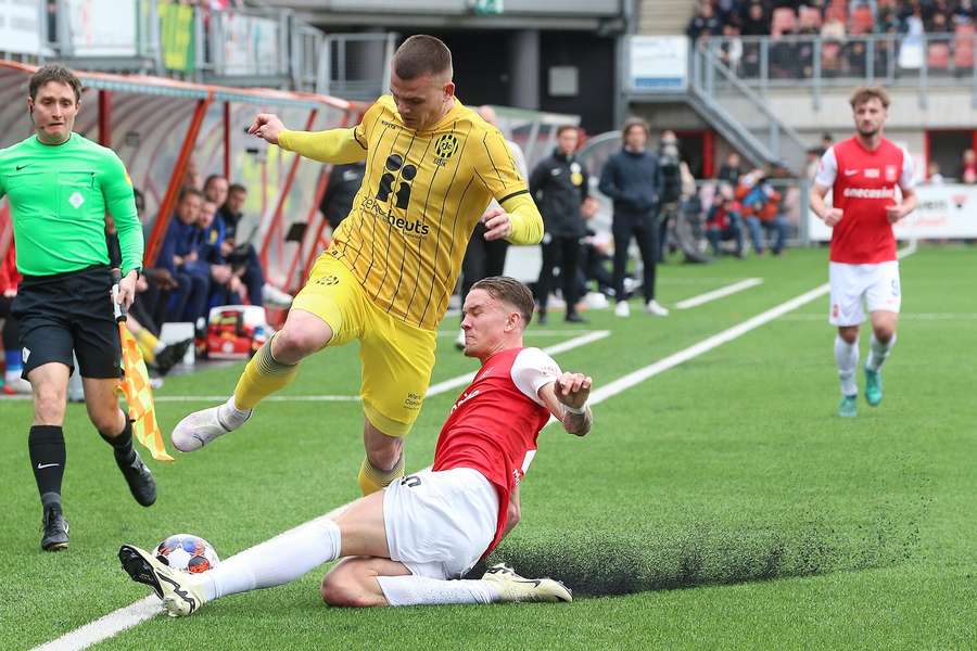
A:
[[[868,312],[885,310],[899,312],[902,292],[899,286],[899,263],[889,260],[876,265],[846,265],[830,263],[832,326],[859,326]]]

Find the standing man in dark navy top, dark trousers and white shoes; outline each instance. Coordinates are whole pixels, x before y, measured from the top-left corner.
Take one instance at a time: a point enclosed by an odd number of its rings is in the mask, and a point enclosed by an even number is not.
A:
[[[614,204],[611,230],[614,235],[614,295],[619,317],[630,314],[624,297],[624,271],[627,247],[635,238],[644,265],[646,309],[656,316],[668,310],[655,301],[655,258],[658,251],[658,202],[662,189],[662,174],[658,156],[647,151],[648,124],[640,118],[624,123],[621,130],[623,146],[605,164],[600,173],[600,191]]]

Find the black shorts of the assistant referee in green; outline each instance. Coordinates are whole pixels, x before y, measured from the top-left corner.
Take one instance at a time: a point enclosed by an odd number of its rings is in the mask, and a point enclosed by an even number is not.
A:
[[[122,375],[122,343],[112,309],[109,267],[89,267],[54,276],[25,276],[13,303],[21,322],[23,376],[58,361],[83,378]]]

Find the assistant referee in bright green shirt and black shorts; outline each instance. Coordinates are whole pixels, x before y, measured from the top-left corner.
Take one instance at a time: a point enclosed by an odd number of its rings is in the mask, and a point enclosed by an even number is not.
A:
[[[0,197],[10,200],[17,269],[24,280],[13,304],[21,322],[24,378],[34,391],[30,468],[43,507],[41,548],[66,549],[61,500],[68,376],[78,358],[88,416],[114,449],[132,496],[148,507],[156,484],[132,448],[132,429],[118,407],[122,347],[113,316],[105,210],[122,246],[118,301],[131,305],[142,265],[142,227],[132,183],[112,150],[72,132],[81,82],[49,65],[30,77],[27,110],[36,133],[0,150]]]

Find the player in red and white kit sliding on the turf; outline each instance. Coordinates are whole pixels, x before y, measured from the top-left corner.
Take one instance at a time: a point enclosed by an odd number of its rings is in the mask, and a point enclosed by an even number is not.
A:
[[[591,378],[562,373],[538,348],[523,348],[533,296],[504,277],[477,282],[465,299],[465,354],[482,367],[461,393],[434,450],[431,470],[408,475],[230,558],[203,574],[167,567],[124,545],[129,576],[150,586],[173,616],[214,599],[295,580],[346,557],[322,580],[330,605],[419,605],[497,601],[571,601],[551,578],[524,579],[505,565],[481,579],[458,579],[519,520],[519,482],[550,416],[583,436]]]

